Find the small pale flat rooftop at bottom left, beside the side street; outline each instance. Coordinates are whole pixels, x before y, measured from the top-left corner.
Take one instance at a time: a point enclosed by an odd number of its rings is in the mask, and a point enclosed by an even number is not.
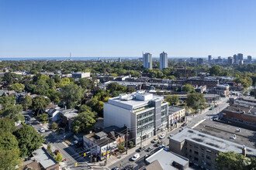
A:
[[[32,155],[37,162],[40,162],[43,168],[48,168],[52,165],[57,164],[54,158],[48,155],[47,151],[44,148],[39,148],[36,151],[33,151]]]

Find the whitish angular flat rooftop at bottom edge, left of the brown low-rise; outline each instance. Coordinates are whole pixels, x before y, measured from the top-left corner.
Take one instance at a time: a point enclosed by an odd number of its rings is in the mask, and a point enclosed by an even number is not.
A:
[[[150,155],[150,157],[146,158],[146,161],[149,163],[152,163],[156,160],[159,162],[159,164],[164,170],[177,169],[171,166],[172,162],[177,162],[179,165],[183,166],[189,163],[188,158],[184,158],[181,155],[177,155],[171,151],[164,151],[163,148],[154,153],[153,155]]]

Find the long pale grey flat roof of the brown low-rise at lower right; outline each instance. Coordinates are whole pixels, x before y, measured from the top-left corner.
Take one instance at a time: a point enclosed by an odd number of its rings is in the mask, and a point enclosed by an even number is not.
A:
[[[171,137],[171,139],[178,142],[185,140],[192,141],[207,148],[212,148],[213,150],[222,152],[234,151],[236,153],[242,153],[243,148],[243,145],[227,141],[223,138],[217,138],[209,134],[204,134],[191,128],[185,128],[183,131]],[[256,155],[256,149],[247,148],[247,154]]]

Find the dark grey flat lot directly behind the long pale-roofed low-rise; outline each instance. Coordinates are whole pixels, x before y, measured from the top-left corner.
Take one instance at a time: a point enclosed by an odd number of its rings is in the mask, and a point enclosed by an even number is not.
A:
[[[250,148],[256,148],[255,131],[240,128],[240,132],[238,132],[238,128],[235,126],[209,120],[206,120],[202,122],[202,124],[199,124],[197,127],[195,127],[195,130],[202,131],[203,133],[211,134],[218,138],[226,139],[228,141],[234,141],[240,145],[246,145]],[[230,138],[234,136],[234,134],[236,134],[236,138]]]

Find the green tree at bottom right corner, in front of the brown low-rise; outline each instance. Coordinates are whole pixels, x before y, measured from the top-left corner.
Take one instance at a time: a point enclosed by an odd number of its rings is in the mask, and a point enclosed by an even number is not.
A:
[[[219,152],[216,158],[216,166],[220,169],[247,169],[250,163],[250,158],[234,151]]]

